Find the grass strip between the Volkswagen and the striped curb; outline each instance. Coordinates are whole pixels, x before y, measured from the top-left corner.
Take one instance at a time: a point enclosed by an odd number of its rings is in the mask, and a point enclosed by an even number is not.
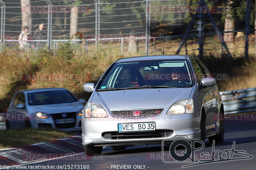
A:
[[[49,142],[76,135],[74,132],[63,132],[57,129],[7,129],[0,130],[0,149],[20,147],[39,142]]]

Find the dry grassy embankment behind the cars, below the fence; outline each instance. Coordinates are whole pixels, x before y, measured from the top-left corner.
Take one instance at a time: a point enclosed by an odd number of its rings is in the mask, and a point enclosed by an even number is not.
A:
[[[171,46],[176,41],[165,42],[166,51],[177,49]],[[141,45],[141,44],[140,44]],[[211,44],[207,44],[209,48]],[[97,82],[102,73],[109,65],[118,58],[144,55],[141,46],[140,52],[130,55],[127,51],[121,55],[120,48],[112,48],[110,44],[101,44],[98,51],[89,46],[89,52],[85,52],[79,46],[70,48],[74,44],[63,44],[54,51],[30,51],[18,52],[7,48],[0,54],[0,113],[6,112],[8,105],[15,92],[24,89],[43,87],[62,87],[73,92],[78,98],[88,99],[90,93],[83,91],[83,85],[88,82]],[[188,44],[188,49],[195,48],[195,44]],[[161,43],[157,44],[156,54],[160,54]],[[173,49],[168,49],[173,48]],[[207,46],[205,46],[207,48]],[[212,48],[212,47],[211,47]],[[127,47],[124,47],[127,49]],[[152,47],[151,47],[152,50]],[[151,52],[151,54],[153,54]],[[171,54],[171,53],[165,53]],[[174,53],[172,53],[174,54]],[[182,53],[181,53],[182,54]],[[207,54],[210,55],[210,54]],[[214,53],[216,55],[216,53]],[[220,91],[236,90],[255,87],[256,82],[256,61],[246,61],[244,58],[236,57],[234,60],[229,57],[201,58],[211,73],[216,77]],[[81,80],[44,80],[42,76],[30,77],[26,80],[25,75],[83,75]],[[41,78],[41,79],[40,79]]]

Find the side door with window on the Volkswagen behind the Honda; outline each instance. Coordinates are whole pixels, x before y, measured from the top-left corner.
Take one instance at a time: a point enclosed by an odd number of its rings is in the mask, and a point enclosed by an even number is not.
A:
[[[24,107],[21,108],[21,105]],[[16,93],[8,109],[8,117],[6,119],[10,122],[11,128],[24,128],[25,121],[27,121],[26,117],[25,94],[23,92]]]

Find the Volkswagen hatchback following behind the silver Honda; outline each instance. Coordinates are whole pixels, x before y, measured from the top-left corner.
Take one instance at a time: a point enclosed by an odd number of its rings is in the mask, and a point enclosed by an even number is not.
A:
[[[80,131],[86,101],[64,88],[23,90],[14,94],[6,115],[6,127],[51,127]]]

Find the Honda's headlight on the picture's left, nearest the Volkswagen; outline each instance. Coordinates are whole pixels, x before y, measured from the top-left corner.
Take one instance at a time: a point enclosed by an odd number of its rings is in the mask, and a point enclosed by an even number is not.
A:
[[[95,103],[88,103],[83,110],[84,118],[94,118],[94,117],[108,117],[105,109]]]

